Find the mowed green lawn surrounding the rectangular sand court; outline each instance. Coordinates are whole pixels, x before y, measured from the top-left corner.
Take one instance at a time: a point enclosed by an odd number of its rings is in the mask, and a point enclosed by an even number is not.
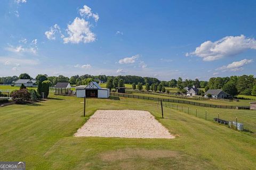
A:
[[[27,169],[254,169],[256,140],[156,101],[53,96],[31,105],[0,107],[0,160]],[[153,114],[175,139],[73,137],[97,109]],[[246,114],[246,113],[244,113]],[[255,120],[254,120],[255,121]]]

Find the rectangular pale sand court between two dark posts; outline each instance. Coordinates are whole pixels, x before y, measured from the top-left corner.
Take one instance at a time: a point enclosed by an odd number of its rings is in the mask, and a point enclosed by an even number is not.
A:
[[[135,110],[98,110],[75,137],[175,138],[149,112]]]

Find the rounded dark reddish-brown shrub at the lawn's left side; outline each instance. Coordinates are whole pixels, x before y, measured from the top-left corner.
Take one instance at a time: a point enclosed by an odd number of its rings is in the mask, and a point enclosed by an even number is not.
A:
[[[15,103],[22,104],[30,100],[30,93],[27,89],[14,90],[12,91],[11,97]]]

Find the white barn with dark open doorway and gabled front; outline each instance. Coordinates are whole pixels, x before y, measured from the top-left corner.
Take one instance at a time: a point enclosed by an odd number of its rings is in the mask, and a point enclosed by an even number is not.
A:
[[[76,97],[98,97],[108,98],[110,94],[109,89],[103,89],[95,81],[91,81],[87,85],[76,87]]]

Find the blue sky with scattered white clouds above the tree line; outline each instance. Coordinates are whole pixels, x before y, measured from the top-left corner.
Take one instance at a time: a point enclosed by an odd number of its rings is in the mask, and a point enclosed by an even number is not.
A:
[[[256,75],[255,8],[256,1],[4,0],[0,77]]]

